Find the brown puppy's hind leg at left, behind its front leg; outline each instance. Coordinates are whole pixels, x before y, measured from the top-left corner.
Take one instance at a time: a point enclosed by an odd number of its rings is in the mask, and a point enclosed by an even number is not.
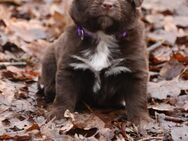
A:
[[[53,102],[55,98],[55,74],[56,60],[54,48],[49,48],[43,58],[41,81],[44,85],[44,95],[46,102]]]

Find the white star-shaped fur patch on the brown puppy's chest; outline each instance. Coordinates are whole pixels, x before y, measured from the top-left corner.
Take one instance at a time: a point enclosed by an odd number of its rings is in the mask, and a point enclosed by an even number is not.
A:
[[[73,55],[72,58],[79,60],[79,63],[71,63],[70,66],[74,69],[90,69],[95,75],[93,91],[96,93],[101,89],[100,71],[110,67],[105,73],[106,76],[117,75],[121,72],[130,72],[130,69],[118,66],[124,59],[113,60],[111,53],[117,51],[118,44],[114,36],[106,35],[103,32],[98,32],[97,37],[99,43],[94,53],[90,49],[82,51],[81,56]]]

